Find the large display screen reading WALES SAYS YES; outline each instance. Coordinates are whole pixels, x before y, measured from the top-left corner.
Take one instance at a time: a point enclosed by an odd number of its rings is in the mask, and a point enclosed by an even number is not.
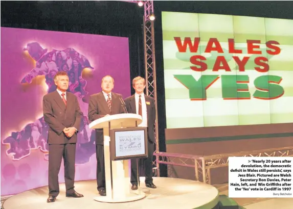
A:
[[[167,128],[293,122],[293,20],[162,12]]]

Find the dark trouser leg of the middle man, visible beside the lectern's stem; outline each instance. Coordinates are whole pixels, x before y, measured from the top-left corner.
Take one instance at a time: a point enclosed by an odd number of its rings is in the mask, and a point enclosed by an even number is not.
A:
[[[104,145],[96,144],[98,191],[106,189]]]

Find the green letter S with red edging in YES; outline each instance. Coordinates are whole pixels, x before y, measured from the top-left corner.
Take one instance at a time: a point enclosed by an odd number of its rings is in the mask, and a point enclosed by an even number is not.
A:
[[[284,94],[284,89],[279,84],[282,77],[277,75],[262,75],[254,80],[256,91],[253,97],[258,99],[276,99]]]

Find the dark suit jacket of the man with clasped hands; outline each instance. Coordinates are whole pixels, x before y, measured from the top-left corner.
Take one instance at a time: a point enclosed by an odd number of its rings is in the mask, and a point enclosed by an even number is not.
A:
[[[63,133],[65,127],[79,130],[82,112],[74,94],[66,92],[67,107],[57,91],[43,97],[44,121],[49,125],[48,143],[67,144],[77,142],[77,133],[67,138]]]

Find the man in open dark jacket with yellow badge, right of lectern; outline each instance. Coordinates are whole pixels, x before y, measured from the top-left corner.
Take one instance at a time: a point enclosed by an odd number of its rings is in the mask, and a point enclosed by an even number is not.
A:
[[[155,122],[155,103],[154,99],[144,94],[146,87],[146,81],[143,77],[135,77],[132,80],[132,87],[136,90],[136,93],[130,97],[127,97],[125,101],[126,109],[128,113],[139,114],[142,116],[143,121],[138,126],[148,127],[148,157],[144,159],[145,165],[145,184],[146,187],[155,189],[152,179],[152,158],[154,151],[154,122]],[[138,169],[137,160],[131,160],[131,177],[130,182],[132,184],[131,189],[138,189]]]

